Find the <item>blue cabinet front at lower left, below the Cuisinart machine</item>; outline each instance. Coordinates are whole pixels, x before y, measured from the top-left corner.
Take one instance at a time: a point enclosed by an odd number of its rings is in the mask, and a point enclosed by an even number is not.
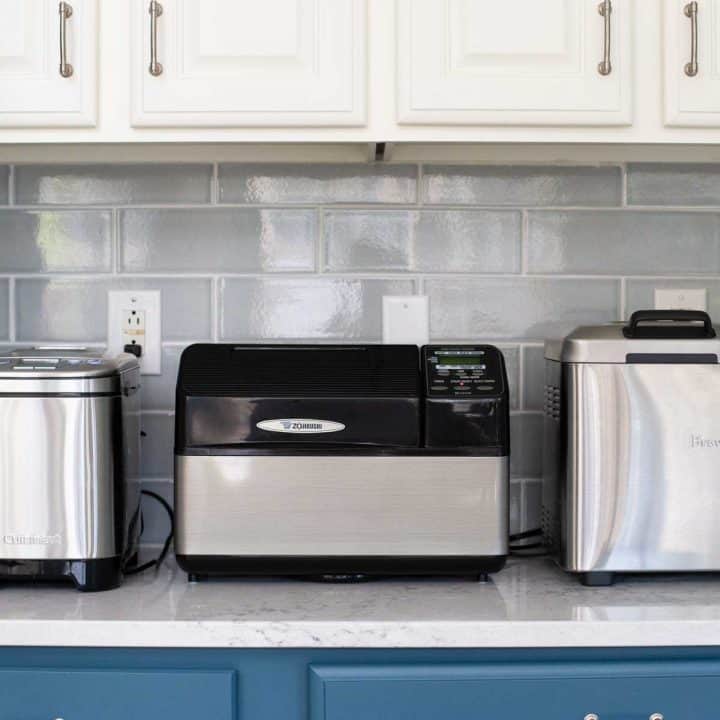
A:
[[[0,669],[0,720],[234,720],[235,672]]]

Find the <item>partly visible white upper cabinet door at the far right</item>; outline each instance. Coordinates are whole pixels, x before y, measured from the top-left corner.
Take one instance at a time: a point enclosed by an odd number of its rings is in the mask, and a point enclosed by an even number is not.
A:
[[[665,0],[665,124],[720,127],[720,0]]]

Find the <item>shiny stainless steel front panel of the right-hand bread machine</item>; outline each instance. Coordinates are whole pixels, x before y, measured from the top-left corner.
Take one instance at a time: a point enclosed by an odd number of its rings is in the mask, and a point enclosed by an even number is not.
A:
[[[720,570],[720,366],[563,374],[563,565]]]

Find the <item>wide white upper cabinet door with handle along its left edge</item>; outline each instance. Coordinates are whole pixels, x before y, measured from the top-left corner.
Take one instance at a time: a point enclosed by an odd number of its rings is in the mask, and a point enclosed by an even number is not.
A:
[[[366,0],[132,0],[132,12],[135,126],[365,123]]]

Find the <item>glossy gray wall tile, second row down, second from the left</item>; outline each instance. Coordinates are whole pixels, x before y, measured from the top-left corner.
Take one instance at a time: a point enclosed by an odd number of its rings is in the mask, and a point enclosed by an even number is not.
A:
[[[315,268],[317,213],[299,208],[124,210],[124,272],[278,272]]]

